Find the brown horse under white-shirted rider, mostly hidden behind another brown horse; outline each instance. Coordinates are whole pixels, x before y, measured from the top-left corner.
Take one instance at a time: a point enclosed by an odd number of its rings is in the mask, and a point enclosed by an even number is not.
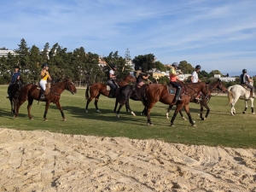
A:
[[[191,96],[191,98],[190,98],[190,102],[200,103],[200,118],[201,118],[201,120],[206,120],[210,113],[210,108],[208,107],[208,102],[210,102],[210,99],[212,97],[211,94],[214,90],[221,90],[222,92],[226,92],[227,88],[224,86],[224,84],[221,82],[220,79],[217,79],[217,81],[213,81],[212,83],[208,84],[208,95],[209,95],[208,97],[201,95],[201,100],[198,101],[195,99],[195,97],[197,96],[197,94],[195,94],[195,95]],[[169,108],[167,109],[166,119],[169,119],[169,112],[172,109],[172,107],[173,107],[173,105],[170,105]],[[207,108],[207,113],[206,113],[205,117],[203,117],[204,107]],[[181,110],[179,111],[179,113],[184,120],[187,120],[183,116],[183,113]]]

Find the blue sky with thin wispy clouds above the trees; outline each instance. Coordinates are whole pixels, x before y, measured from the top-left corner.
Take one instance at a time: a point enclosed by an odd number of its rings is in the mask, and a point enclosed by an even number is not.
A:
[[[0,7],[0,47],[58,43],[73,51],[188,61],[210,73],[256,75],[254,0],[13,0]]]

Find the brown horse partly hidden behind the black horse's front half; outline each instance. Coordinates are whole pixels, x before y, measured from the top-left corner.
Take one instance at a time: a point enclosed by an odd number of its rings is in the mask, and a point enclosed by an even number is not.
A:
[[[118,82],[119,87],[125,86],[126,84],[129,83],[135,83],[136,79],[128,73],[128,75],[125,77],[124,80],[121,80]],[[90,96],[89,96],[89,91],[90,91]],[[95,107],[96,111],[98,113],[101,113],[101,111],[98,108],[98,101],[99,97],[101,96],[108,96],[109,95],[109,90],[107,90],[107,85],[102,84],[102,83],[96,83],[96,84],[89,84],[87,86],[87,89],[85,90],[85,98],[87,100],[86,107],[85,107],[85,112],[88,113],[88,105],[89,103],[95,99]]]

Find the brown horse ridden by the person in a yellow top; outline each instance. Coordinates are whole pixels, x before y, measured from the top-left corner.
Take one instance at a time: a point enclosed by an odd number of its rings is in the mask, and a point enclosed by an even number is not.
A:
[[[38,98],[39,98],[40,90],[38,90],[37,88],[38,88],[38,86],[36,84],[26,84],[23,87],[21,87],[20,96],[18,98],[18,101],[15,102],[15,118],[19,114],[20,106],[27,100],[28,101],[28,104],[27,104],[28,118],[32,119],[32,115],[30,112],[31,107],[32,107],[32,102],[33,102],[33,100],[38,100]],[[63,110],[61,108],[61,103],[60,103],[61,93],[64,90],[68,90],[72,94],[77,92],[75,85],[73,84],[73,82],[70,79],[65,79],[61,83],[51,84],[49,94],[45,96],[45,100],[44,100],[44,102],[46,102],[45,111],[44,111],[44,120],[45,121],[47,121],[46,114],[48,112],[50,102],[55,103],[57,108],[59,108],[61,111],[62,119],[64,121],[66,121],[66,118],[65,118],[65,115],[63,113]]]

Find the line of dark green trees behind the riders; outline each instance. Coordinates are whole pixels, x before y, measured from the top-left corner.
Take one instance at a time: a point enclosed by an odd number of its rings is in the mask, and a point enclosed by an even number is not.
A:
[[[6,49],[6,48],[2,48]],[[0,84],[8,84],[10,73],[13,68],[18,65],[23,81],[27,83],[37,83],[40,79],[39,74],[41,66],[44,63],[49,64],[49,73],[53,82],[60,82],[64,78],[71,78],[73,82],[81,82],[82,84],[93,84],[96,82],[106,83],[108,80],[108,71],[112,65],[117,65],[118,80],[123,79],[127,73],[137,70],[137,67],[143,68],[143,73],[152,74],[154,70],[166,72],[170,67],[166,67],[160,61],[155,61],[154,54],[137,55],[131,60],[129,49],[125,51],[125,57],[119,55],[118,51],[109,53],[108,56],[99,56],[95,53],[86,53],[84,47],[74,49],[68,52],[67,48],[62,48],[59,44],[54,44],[51,48],[49,43],[44,45],[41,51],[36,45],[31,48],[26,44],[26,40],[22,38],[18,49],[15,49],[15,55],[9,53],[7,57],[0,58]],[[106,65],[98,65],[99,61]],[[127,63],[134,63],[134,69]],[[187,61],[180,61],[179,68],[183,73],[192,73],[195,68]],[[136,72],[134,72],[136,73]],[[218,70],[207,73],[202,70],[199,78],[203,80],[211,79],[214,74],[221,74]],[[228,74],[227,74],[228,76]],[[154,81],[153,76],[149,78]],[[163,77],[158,79],[160,83],[167,84],[169,79]],[[230,82],[230,84],[232,84]]]

